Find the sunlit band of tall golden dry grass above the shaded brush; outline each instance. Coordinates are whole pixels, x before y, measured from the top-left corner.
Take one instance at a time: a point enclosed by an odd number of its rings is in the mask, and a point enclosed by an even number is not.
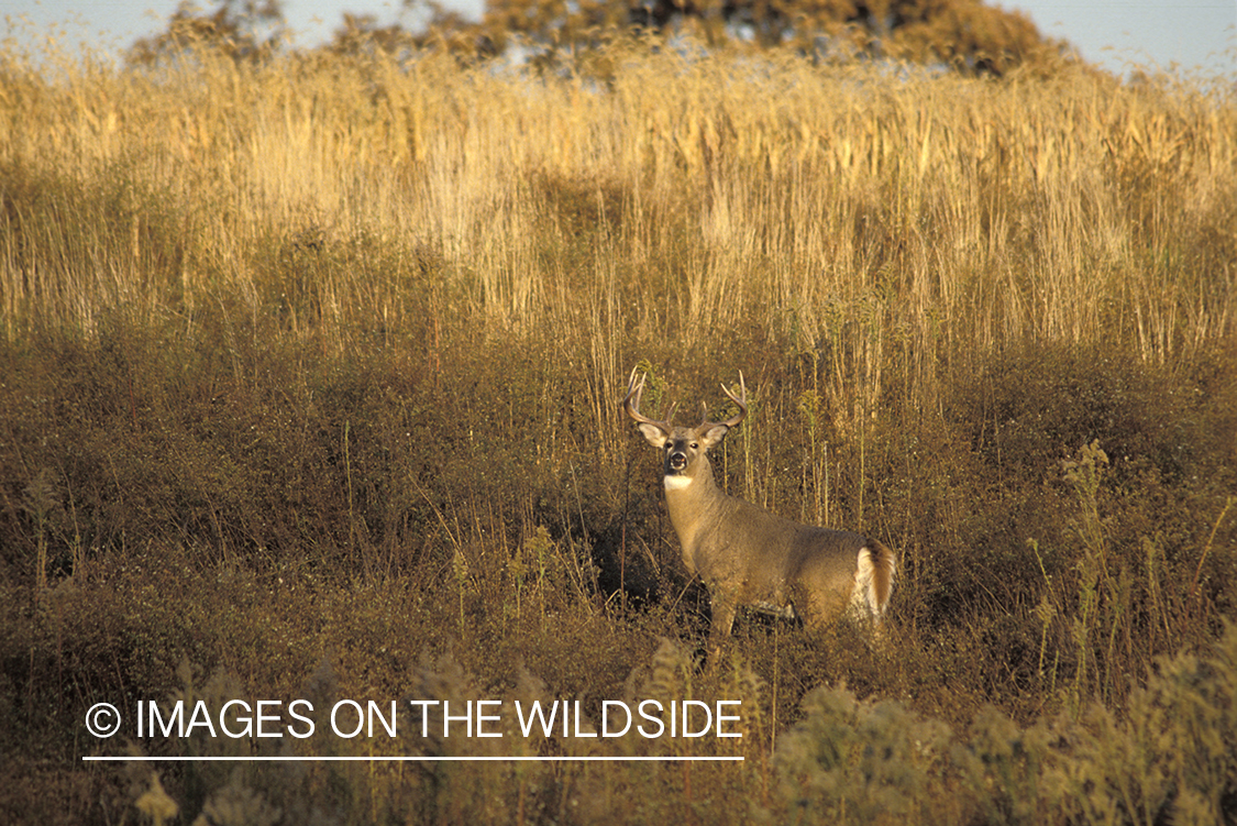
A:
[[[404,284],[259,263],[319,236],[440,258],[440,287],[499,328],[597,336],[610,396],[625,330],[696,347],[757,326],[871,411],[889,364],[930,397],[941,357],[1115,340],[1165,362],[1232,329],[1218,85],[674,52],[606,83],[437,57],[5,63],[0,162],[53,200],[6,214],[10,340],[289,289],[315,315],[289,297],[291,331],[336,350],[414,323]]]

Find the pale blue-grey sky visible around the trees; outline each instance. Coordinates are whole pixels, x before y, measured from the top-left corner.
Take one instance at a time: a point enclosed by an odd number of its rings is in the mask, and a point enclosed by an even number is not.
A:
[[[445,6],[473,17],[480,16],[482,4],[444,0]],[[198,0],[198,5],[216,7],[214,0]],[[1237,77],[1237,0],[1006,0],[995,5],[1023,11],[1043,35],[1069,41],[1085,59],[1118,74],[1138,64]],[[37,46],[53,36],[71,52],[85,43],[119,53],[136,38],[162,31],[176,6],[177,0],[0,0],[0,37]],[[345,11],[372,15],[381,25],[416,23],[398,0],[283,0],[283,11],[299,46],[328,40]]]

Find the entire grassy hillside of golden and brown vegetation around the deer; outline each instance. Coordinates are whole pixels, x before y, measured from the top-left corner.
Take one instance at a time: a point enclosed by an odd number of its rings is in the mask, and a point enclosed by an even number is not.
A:
[[[605,57],[0,53],[2,819],[1231,820],[1231,84]],[[897,549],[880,645],[703,662],[635,365],[743,372],[722,481]],[[83,726],[297,697],[743,736]],[[130,748],[746,759],[82,762]]]

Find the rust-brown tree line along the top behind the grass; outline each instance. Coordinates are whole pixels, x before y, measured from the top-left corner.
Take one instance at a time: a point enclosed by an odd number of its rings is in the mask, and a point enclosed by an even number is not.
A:
[[[1050,67],[1070,53],[1021,11],[981,0],[486,0],[474,21],[438,0],[403,0],[417,27],[346,12],[322,49],[336,53],[447,49],[487,59],[518,45],[531,59],[560,62],[620,41],[690,36],[710,48],[792,49],[816,61],[898,61],[970,74]],[[187,0],[167,27],[136,41],[127,59],[151,64],[189,46],[261,61],[288,47],[281,0]],[[579,62],[576,59],[576,62]]]

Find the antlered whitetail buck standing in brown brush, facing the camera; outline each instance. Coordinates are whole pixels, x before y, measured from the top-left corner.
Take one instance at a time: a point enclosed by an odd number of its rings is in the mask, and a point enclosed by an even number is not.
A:
[[[889,603],[897,558],[878,540],[847,530],[799,524],[751,502],[729,496],[713,481],[708,450],[747,415],[747,387],[738,375],[740,396],[722,392],[738,406],[725,422],[708,417],[694,428],[656,422],[640,412],[644,376],[631,371],[623,409],[648,443],[664,451],[666,505],[679,535],[683,563],[709,589],[713,603],[709,647],[716,652],[730,637],[738,606],[752,606],[807,624],[847,611],[880,622]],[[794,600],[799,600],[795,603]]]

